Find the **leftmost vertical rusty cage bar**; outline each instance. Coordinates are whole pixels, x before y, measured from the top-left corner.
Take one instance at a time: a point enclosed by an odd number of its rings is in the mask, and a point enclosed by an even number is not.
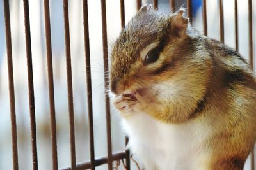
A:
[[[8,64],[8,80],[9,80],[9,99],[10,99],[10,117],[12,125],[12,164],[13,170],[19,169],[18,164],[18,146],[17,146],[17,125],[15,112],[15,94],[13,81],[13,64],[12,64],[12,36],[10,23],[9,0],[4,0],[4,20],[5,20],[5,36]]]

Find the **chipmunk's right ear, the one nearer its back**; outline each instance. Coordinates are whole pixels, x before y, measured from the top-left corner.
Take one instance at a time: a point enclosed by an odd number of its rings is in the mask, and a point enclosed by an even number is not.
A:
[[[186,34],[189,19],[184,17],[184,9],[180,9],[170,17],[171,31],[176,36],[183,36]]]

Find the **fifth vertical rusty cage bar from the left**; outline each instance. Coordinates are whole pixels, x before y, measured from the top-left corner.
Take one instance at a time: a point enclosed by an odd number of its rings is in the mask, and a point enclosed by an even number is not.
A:
[[[92,110],[92,79],[90,64],[90,41],[89,41],[89,25],[88,25],[88,1],[83,0],[83,24],[84,24],[84,49],[86,64],[86,84],[87,84],[87,104],[88,119],[90,131],[90,168],[95,169],[95,153],[94,153],[94,136],[93,136],[93,110]]]

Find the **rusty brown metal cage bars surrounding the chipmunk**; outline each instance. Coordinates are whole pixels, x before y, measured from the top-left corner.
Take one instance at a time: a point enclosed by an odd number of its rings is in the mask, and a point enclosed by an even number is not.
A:
[[[141,8],[142,2],[136,1],[137,10]],[[175,1],[170,0],[170,9],[175,10]],[[220,41],[224,43],[224,20],[223,20],[223,0],[218,0],[218,13],[219,13],[219,26],[220,26]],[[238,25],[237,25],[237,0],[234,0],[234,16],[235,16],[235,32],[236,50],[238,50]],[[33,67],[32,67],[32,53],[31,53],[31,34],[29,23],[29,1],[23,0],[24,7],[24,24],[25,24],[25,38],[26,38],[26,57],[28,69],[28,88],[29,88],[29,111],[30,111],[30,124],[31,124],[31,146],[33,155],[33,169],[38,169],[37,157],[37,143],[36,143],[36,122],[35,122],[35,99],[34,99],[34,85],[33,85]],[[158,2],[153,1],[153,6],[157,10]],[[10,117],[12,125],[12,157],[13,169],[19,169],[18,149],[17,149],[17,125],[15,115],[15,93],[13,83],[13,61],[12,61],[12,37],[10,25],[10,9],[9,0],[4,0],[4,19],[6,29],[6,50],[8,60],[8,80],[9,80],[9,95],[10,95]],[[192,0],[186,0],[186,8],[188,10],[188,17],[193,18],[192,13]],[[68,18],[68,0],[63,0],[63,13],[64,13],[64,28],[65,28],[65,54],[66,54],[66,67],[67,67],[67,91],[68,91],[68,111],[69,111],[69,127],[70,127],[70,167],[58,167],[57,159],[57,136],[56,136],[56,117],[55,117],[55,104],[54,104],[54,78],[52,73],[52,45],[51,45],[51,17],[49,11],[49,0],[44,0],[44,20],[45,20],[45,37],[47,49],[47,72],[48,72],[48,88],[49,88],[49,104],[50,104],[50,117],[51,117],[51,149],[52,149],[52,169],[95,169],[95,167],[102,164],[108,164],[108,169],[113,169],[113,161],[125,160],[125,169],[130,169],[130,152],[129,150],[112,153],[111,142],[111,118],[109,97],[106,95],[106,134],[108,141],[108,155],[106,157],[95,158],[94,138],[93,138],[93,109],[92,109],[92,80],[90,71],[90,45],[89,45],[89,30],[88,30],[88,1],[83,0],[83,27],[84,27],[84,56],[86,62],[86,82],[87,82],[87,97],[88,97],[88,120],[90,132],[90,160],[77,164],[76,151],[75,151],[75,131],[74,131],[74,105],[73,105],[73,89],[72,89],[72,69],[71,69],[71,55],[70,55],[70,30]],[[106,22],[106,0],[101,0],[102,11],[102,45],[103,45],[103,58],[104,69],[108,70],[108,42],[107,42],[107,22]],[[121,25],[125,25],[125,5],[124,0],[120,0],[120,16]],[[249,63],[253,67],[253,19],[252,19],[252,0],[248,0],[248,39],[249,39]],[[193,21],[193,20],[191,20]],[[204,34],[207,35],[207,6],[206,0],[202,0],[202,21]],[[105,89],[108,89],[108,76],[104,77]],[[127,143],[128,138],[125,139]],[[254,169],[254,152],[251,153],[251,167]]]

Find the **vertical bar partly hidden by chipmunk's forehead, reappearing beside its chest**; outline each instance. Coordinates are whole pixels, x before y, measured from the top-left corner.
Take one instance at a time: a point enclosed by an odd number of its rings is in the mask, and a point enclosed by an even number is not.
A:
[[[121,27],[125,27],[125,8],[124,8],[124,0],[120,0],[120,12],[121,12]],[[125,136],[125,145],[127,146],[129,141],[128,136]],[[126,159],[126,169],[130,170],[130,151],[127,149],[125,151],[125,159]]]

